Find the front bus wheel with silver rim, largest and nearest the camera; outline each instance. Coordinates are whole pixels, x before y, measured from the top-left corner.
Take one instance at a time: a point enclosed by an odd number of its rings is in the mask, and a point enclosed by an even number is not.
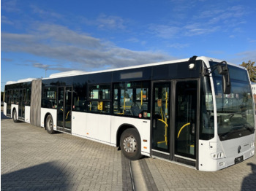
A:
[[[124,156],[130,160],[138,160],[142,157],[140,153],[140,136],[135,129],[124,130],[124,133],[121,134],[120,147]]]

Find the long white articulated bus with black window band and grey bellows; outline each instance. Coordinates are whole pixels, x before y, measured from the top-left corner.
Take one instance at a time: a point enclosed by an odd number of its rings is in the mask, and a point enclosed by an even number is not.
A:
[[[143,155],[218,171],[255,154],[246,69],[214,58],[7,82],[4,114]]]

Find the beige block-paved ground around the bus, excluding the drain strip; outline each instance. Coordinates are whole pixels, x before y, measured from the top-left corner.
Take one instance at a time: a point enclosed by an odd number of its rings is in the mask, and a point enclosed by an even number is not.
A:
[[[149,190],[256,190],[256,157],[217,172],[139,160]],[[116,148],[1,118],[1,190],[131,190]]]

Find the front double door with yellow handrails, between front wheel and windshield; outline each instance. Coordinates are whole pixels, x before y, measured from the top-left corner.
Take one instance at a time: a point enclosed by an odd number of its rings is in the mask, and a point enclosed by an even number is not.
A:
[[[195,166],[197,80],[153,83],[151,155]]]

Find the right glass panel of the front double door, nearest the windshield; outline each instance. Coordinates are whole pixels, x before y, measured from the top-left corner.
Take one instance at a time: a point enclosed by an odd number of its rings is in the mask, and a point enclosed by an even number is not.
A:
[[[175,154],[195,158],[197,81],[176,83]]]

